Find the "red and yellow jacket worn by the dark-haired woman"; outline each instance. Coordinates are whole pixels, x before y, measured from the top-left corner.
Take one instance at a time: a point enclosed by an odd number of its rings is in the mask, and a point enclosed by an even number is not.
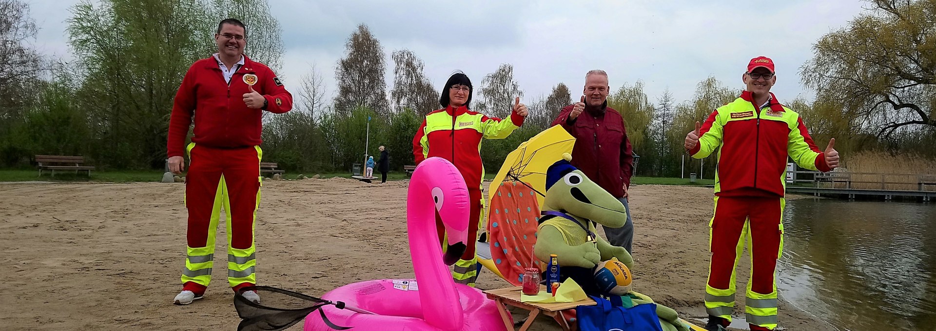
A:
[[[448,160],[461,171],[468,189],[481,183],[481,138],[503,139],[510,136],[524,117],[513,113],[509,121],[488,117],[465,107],[439,109],[426,115],[413,137],[416,164],[432,156]]]

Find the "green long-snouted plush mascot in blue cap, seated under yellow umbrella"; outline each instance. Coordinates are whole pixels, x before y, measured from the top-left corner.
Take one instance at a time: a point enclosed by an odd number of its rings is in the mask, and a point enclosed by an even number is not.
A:
[[[545,216],[540,218],[534,254],[540,261],[556,254],[561,280],[575,280],[590,295],[607,295],[595,284],[594,267],[617,258],[633,272],[634,259],[624,248],[596,235],[595,223],[621,227],[627,222],[627,211],[621,201],[571,165],[571,155],[564,153],[563,159],[547,171],[546,197],[540,207]],[[627,296],[635,305],[653,303],[636,292]],[[657,304],[656,312],[665,331],[688,331],[676,310]]]

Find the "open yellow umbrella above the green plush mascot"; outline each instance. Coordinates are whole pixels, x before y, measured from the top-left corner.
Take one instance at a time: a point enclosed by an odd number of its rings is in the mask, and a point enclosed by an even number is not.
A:
[[[517,150],[507,154],[501,170],[490,182],[488,201],[494,198],[502,181],[517,180],[536,193],[536,200],[542,206],[546,194],[546,170],[549,165],[563,159],[563,152],[571,154],[575,144],[576,138],[565,132],[561,125],[553,125],[524,141]]]

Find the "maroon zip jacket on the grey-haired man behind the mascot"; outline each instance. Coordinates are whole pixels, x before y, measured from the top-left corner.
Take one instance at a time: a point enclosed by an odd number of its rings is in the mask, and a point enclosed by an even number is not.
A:
[[[631,186],[634,171],[634,151],[627,139],[621,113],[607,107],[586,107],[571,123],[569,113],[575,105],[563,108],[552,125],[563,125],[576,145],[572,149],[572,165],[598,183],[614,197],[624,196],[624,185]]]

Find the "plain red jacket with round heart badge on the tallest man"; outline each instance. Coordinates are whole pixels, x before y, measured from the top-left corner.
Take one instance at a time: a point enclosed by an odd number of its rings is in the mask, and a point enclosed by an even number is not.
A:
[[[247,56],[243,58],[244,63],[231,77],[230,84],[213,57],[198,60],[188,68],[169,120],[168,157],[185,153],[185,136],[193,115],[192,142],[214,148],[260,145],[260,117],[264,110],[247,108],[243,103],[243,94],[250,93],[243,81],[246,74],[256,75],[254,91],[267,99],[266,111],[284,113],[292,108],[292,94],[270,67]]]

